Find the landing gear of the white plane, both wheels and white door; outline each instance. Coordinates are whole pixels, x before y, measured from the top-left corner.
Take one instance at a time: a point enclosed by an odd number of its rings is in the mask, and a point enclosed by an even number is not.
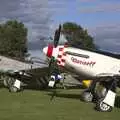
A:
[[[98,86],[102,85],[102,89],[99,89],[96,81],[93,81],[91,86],[82,93],[82,100],[95,102],[98,111],[111,112],[115,103],[117,82],[116,77],[111,77],[109,81],[99,82]]]

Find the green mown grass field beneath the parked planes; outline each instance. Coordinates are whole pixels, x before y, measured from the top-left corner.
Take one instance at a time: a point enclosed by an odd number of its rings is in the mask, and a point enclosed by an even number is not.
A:
[[[80,89],[51,92],[25,90],[9,93],[0,89],[0,120],[117,120],[120,108],[112,112],[97,112],[95,104],[80,101]]]

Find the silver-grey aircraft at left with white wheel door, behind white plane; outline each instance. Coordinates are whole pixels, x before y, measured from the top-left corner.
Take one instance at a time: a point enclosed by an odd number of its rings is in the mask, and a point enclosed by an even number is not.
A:
[[[19,61],[0,56],[0,81],[10,92],[20,91],[21,87],[33,82],[40,85],[40,77],[46,76],[47,70],[47,63],[37,57]]]

